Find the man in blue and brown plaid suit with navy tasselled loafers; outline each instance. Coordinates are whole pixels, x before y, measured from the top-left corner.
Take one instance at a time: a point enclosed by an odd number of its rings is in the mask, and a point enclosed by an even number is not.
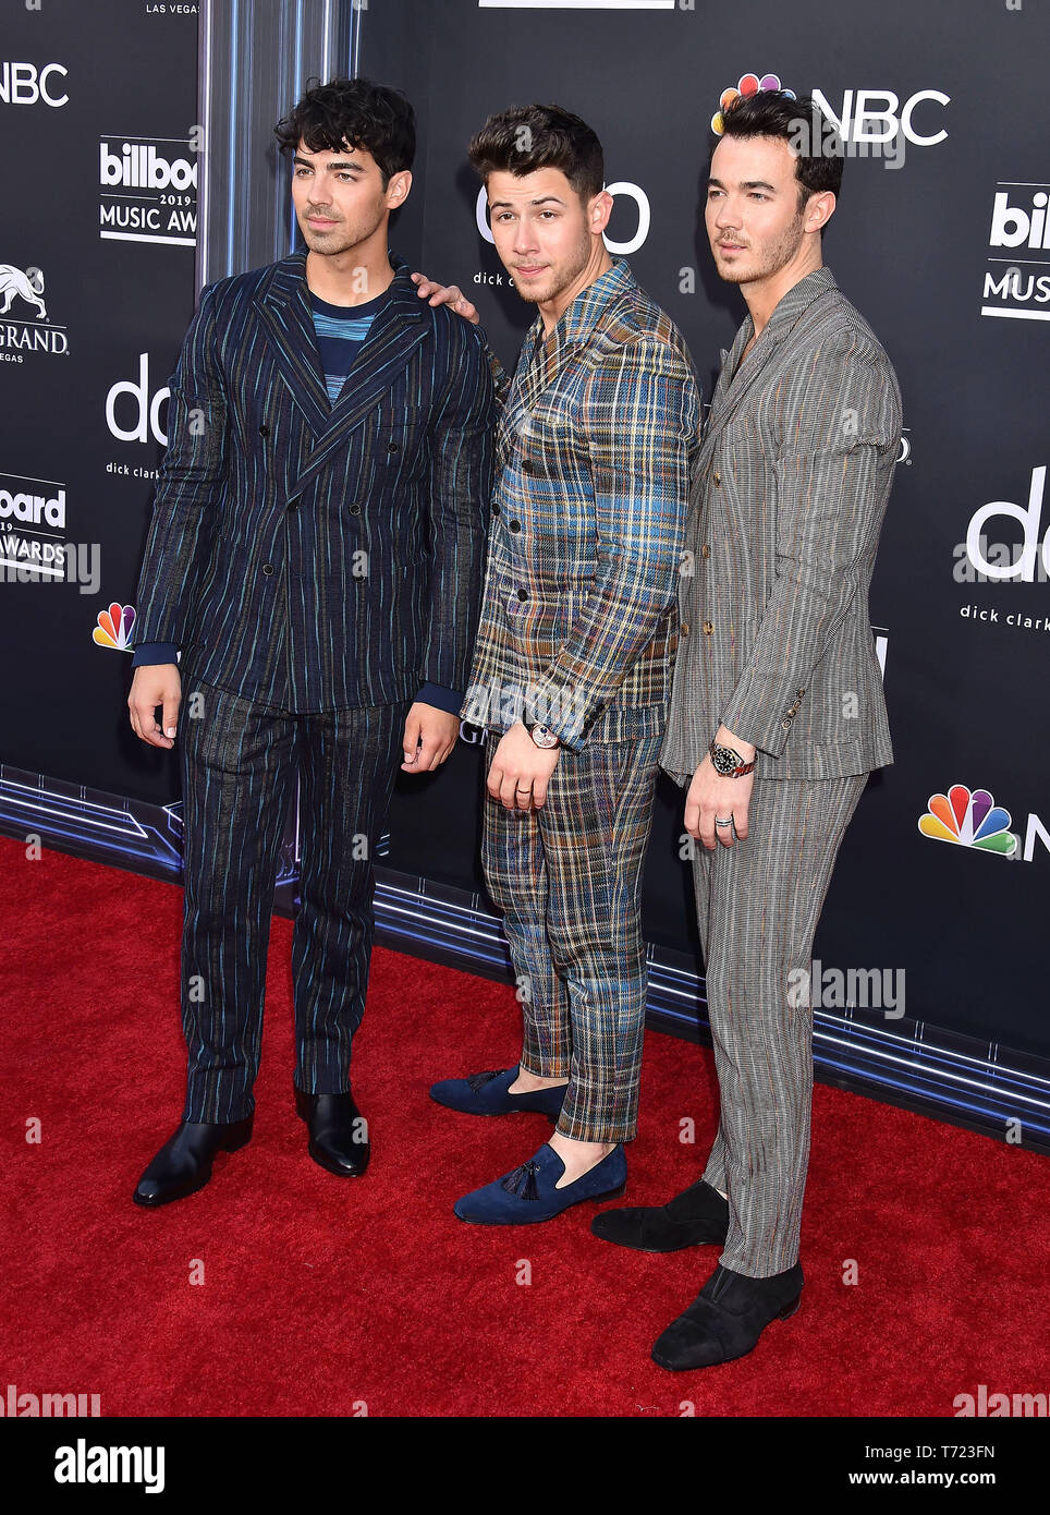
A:
[[[517,1067],[431,1094],[557,1117],[528,1162],[455,1204],[464,1221],[528,1224],[622,1192],[635,1135],[641,865],[699,397],[681,333],[605,248],[613,200],[590,127],[557,106],[507,111],[471,161],[496,250],[539,306],[513,379],[492,359],[498,479],[461,712],[489,729],[483,864],[525,1041]],[[477,317],[454,288],[434,300]]]

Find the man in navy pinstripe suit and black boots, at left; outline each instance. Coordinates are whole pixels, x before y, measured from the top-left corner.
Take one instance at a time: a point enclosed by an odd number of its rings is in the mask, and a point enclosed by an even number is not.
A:
[[[297,777],[297,1107],[318,1164],[365,1173],[349,1060],[371,853],[398,765],[433,771],[455,744],[480,608],[493,383],[480,333],[421,305],[387,250],[412,185],[412,106],[334,80],[275,133],[306,248],[201,294],[138,592],[132,726],[182,747],[189,1050],[144,1206],[200,1189],[215,1153],[250,1139]]]

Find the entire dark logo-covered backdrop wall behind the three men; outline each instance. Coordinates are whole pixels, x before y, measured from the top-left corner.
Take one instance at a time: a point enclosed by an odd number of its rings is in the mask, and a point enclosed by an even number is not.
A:
[[[39,571],[11,582],[6,570],[0,582],[3,829],[177,868],[174,762],[132,738],[130,659],[92,630],[135,592],[163,389],[194,300],[198,173],[213,191],[207,277],[269,261],[290,230],[274,211],[281,170],[268,132],[298,85],[356,59],[404,88],[421,152],[392,241],[472,291],[511,364],[531,311],[507,288],[464,147],[490,111],[557,100],[601,135],[616,197],[610,245],[681,326],[710,397],[743,315],[713,274],[701,220],[711,117],[744,76],[775,74],[819,91],[843,124],[850,156],[825,256],[896,364],[906,424],[871,595],[897,762],[861,803],[817,938],[831,976],[820,1056],[834,1077],[849,1067],[841,1048],[867,1036],[885,1097],[908,1098],[946,1077],[944,1059],[920,1077],[929,1045],[965,1047],[952,1073],[961,1118],[985,1109],[1006,1060],[1027,1070],[1014,1103],[1045,1115],[1050,108],[1038,85],[1011,83],[1048,56],[1045,8],[212,0],[201,8],[215,44],[207,112],[194,11],[47,0],[41,12],[11,6],[5,21],[0,174],[18,214],[0,251],[0,553]],[[312,52],[303,17],[322,12],[337,26]],[[61,189],[39,174],[56,162]],[[460,901],[477,924],[481,754],[478,733],[463,736],[439,776],[401,782],[384,867],[421,898]],[[106,827],[91,824],[91,804]],[[666,785],[646,930],[666,1001],[678,995],[694,1020],[681,839],[681,797]],[[289,877],[294,854],[292,838]],[[442,926],[448,950],[455,909]],[[404,939],[437,951],[434,932]],[[461,961],[502,971],[499,951],[472,957],[468,936],[463,927]],[[878,992],[885,1003],[871,1006]]]

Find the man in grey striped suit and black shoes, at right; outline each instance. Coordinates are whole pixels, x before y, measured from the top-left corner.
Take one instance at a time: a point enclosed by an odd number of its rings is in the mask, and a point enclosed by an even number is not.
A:
[[[681,642],[661,765],[685,830],[720,1091],[704,1177],[593,1229],[648,1251],[723,1250],[654,1347],[666,1368],[750,1351],[802,1291],[812,936],[846,826],[893,762],[868,586],[900,442],[871,329],[822,261],[841,145],[779,91],[723,115],[707,230],[749,315],[694,476]],[[809,144],[838,145],[822,153]],[[806,983],[799,994],[797,985]]]

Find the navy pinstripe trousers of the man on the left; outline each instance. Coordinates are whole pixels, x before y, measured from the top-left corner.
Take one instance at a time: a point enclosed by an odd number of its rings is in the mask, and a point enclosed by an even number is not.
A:
[[[349,1088],[374,939],[372,856],[410,704],[294,715],[183,671],[183,1120],[236,1121],[254,1109],[269,918],[297,774],[295,1083],[307,1094]]]

